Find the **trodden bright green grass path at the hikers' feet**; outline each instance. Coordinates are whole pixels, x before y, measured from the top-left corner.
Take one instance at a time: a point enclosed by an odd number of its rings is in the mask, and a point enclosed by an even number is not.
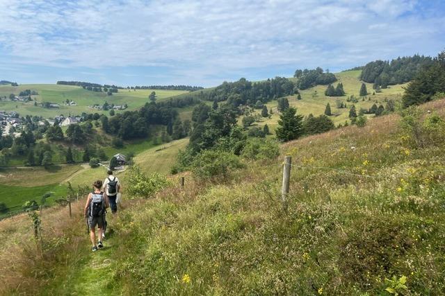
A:
[[[110,221],[108,221],[108,224]],[[97,252],[90,252],[82,260],[79,268],[72,276],[70,291],[67,295],[119,295],[113,287],[114,254],[117,250],[115,234],[107,230],[104,248]],[[90,247],[90,245],[89,245]]]

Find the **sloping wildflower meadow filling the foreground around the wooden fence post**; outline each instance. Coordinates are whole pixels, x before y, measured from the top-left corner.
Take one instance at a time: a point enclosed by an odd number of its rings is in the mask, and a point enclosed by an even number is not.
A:
[[[445,120],[445,100],[420,110],[423,127],[426,110]],[[65,208],[42,216],[45,260],[28,217],[0,221],[0,293],[442,295],[445,134],[425,134],[420,147],[400,121],[291,141],[228,180],[189,175],[185,189],[127,200],[103,253],[88,252],[83,202],[72,219]],[[286,207],[284,155],[293,157]]]

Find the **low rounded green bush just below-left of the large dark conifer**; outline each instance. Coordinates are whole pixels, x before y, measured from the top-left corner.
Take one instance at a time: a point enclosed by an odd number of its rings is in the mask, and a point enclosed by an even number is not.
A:
[[[250,139],[242,155],[248,159],[275,159],[280,155],[280,145],[272,139]]]

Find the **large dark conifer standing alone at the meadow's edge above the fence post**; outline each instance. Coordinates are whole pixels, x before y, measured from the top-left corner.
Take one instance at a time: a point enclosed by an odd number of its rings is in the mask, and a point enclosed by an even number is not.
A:
[[[296,115],[296,109],[288,108],[280,116],[277,130],[277,139],[281,141],[291,141],[298,139],[303,133],[303,116]]]

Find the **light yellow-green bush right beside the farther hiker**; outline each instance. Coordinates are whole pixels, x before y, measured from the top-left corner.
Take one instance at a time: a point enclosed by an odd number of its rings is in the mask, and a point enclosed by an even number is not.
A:
[[[131,166],[126,178],[129,198],[151,198],[156,192],[170,185],[170,181],[163,175],[154,173],[146,175],[139,166]]]

